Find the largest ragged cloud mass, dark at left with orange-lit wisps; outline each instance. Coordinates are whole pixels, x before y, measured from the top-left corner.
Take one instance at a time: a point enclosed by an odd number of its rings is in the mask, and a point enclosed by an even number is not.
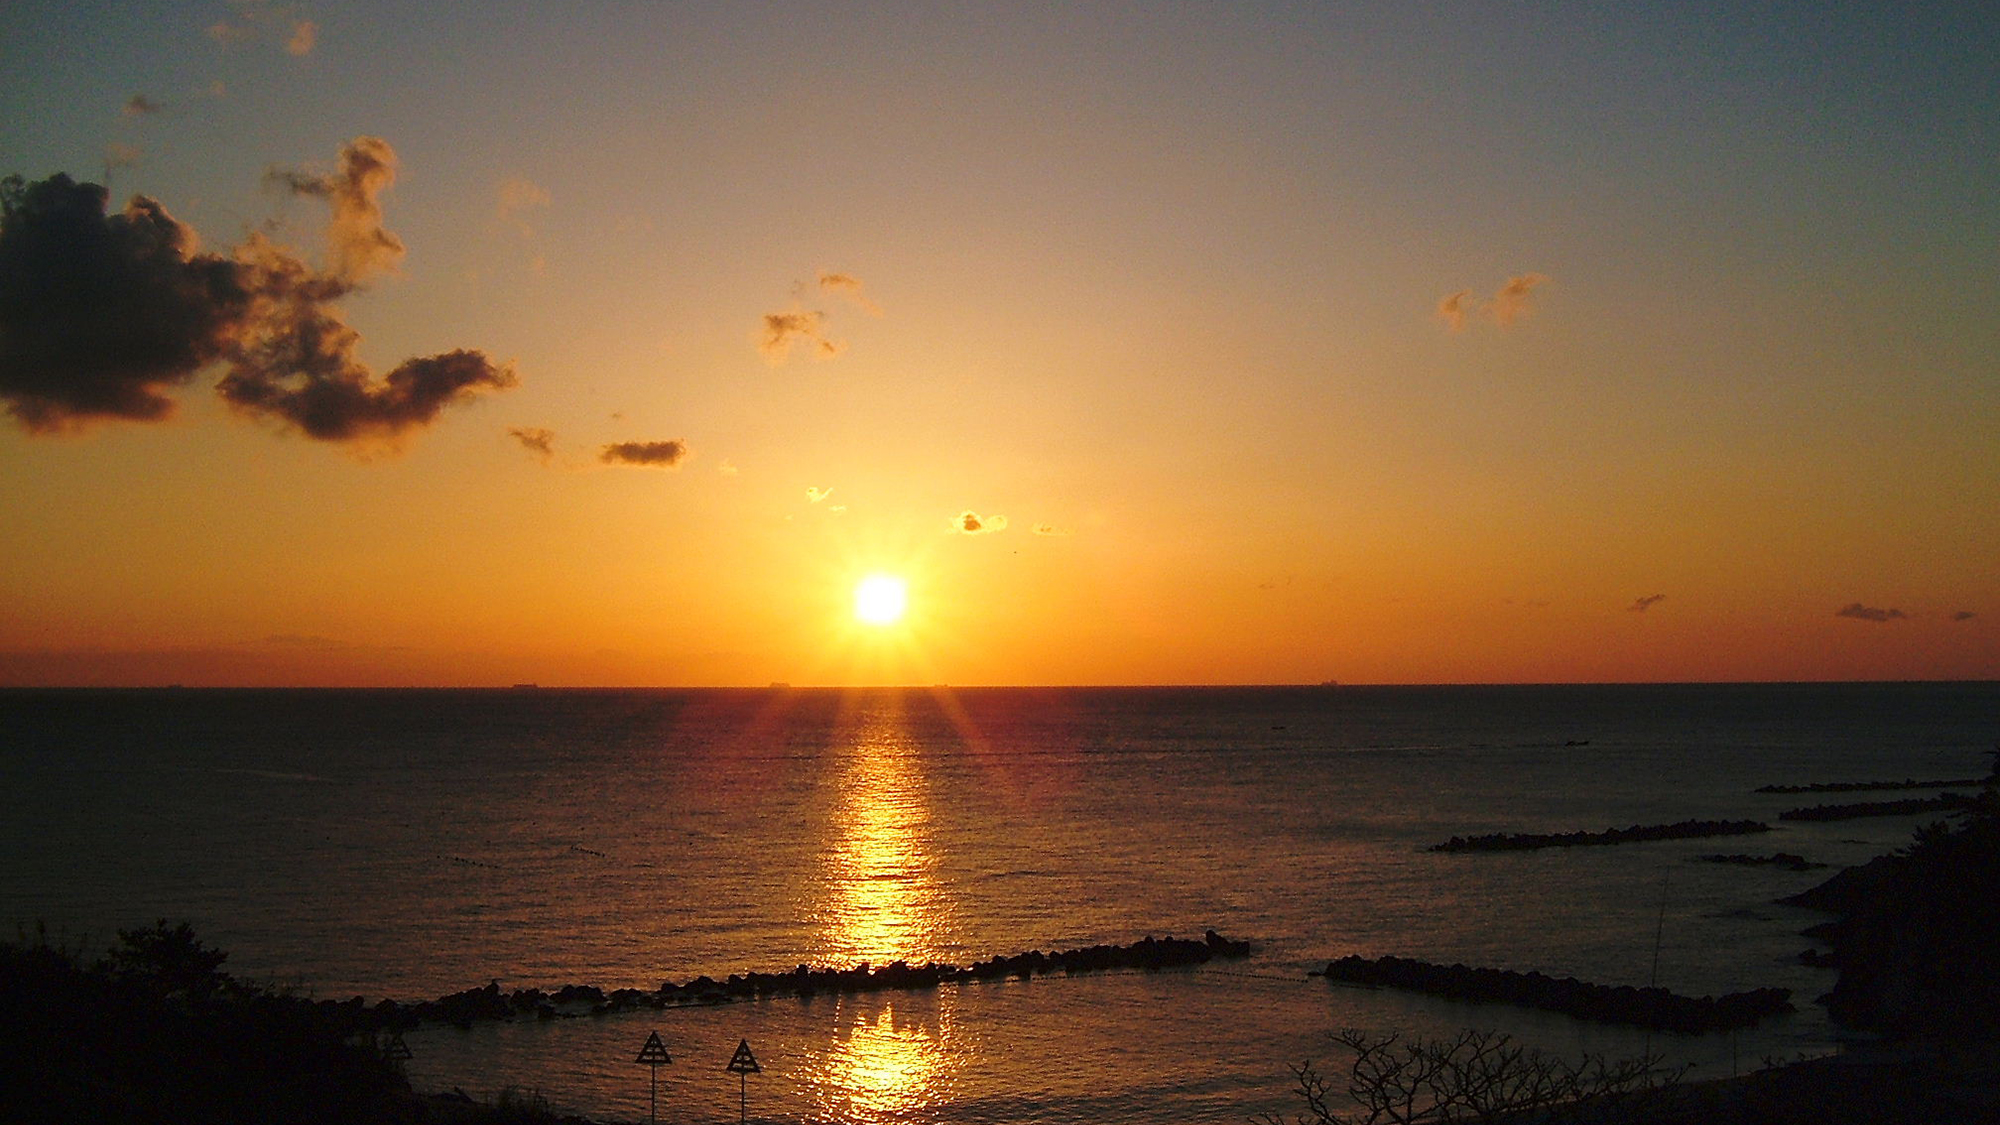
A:
[[[94,420],[160,420],[172,392],[212,364],[242,414],[326,442],[394,442],[446,406],[516,384],[478,350],[410,358],[376,376],[338,302],[396,268],[382,226],[396,152],[358,136],[334,172],[272,170],[266,182],[328,200],[330,264],[314,268],[252,232],[230,256],[156,200],[108,214],[110,192],[64,174],[0,182],[0,400],[32,434]]]

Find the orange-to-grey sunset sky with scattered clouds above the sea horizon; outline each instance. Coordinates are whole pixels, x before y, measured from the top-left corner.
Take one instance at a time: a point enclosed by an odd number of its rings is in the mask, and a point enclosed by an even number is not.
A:
[[[0,685],[1996,679],[1996,60],[16,0]]]

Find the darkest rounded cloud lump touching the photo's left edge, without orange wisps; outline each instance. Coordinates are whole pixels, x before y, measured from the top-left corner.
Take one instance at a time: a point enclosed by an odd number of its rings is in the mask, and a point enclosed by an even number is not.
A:
[[[0,180],[0,398],[30,432],[164,418],[168,390],[222,358],[252,308],[244,268],[134,196],[64,174]]]

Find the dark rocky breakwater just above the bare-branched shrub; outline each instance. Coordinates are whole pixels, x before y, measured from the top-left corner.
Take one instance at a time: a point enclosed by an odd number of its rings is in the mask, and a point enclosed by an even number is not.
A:
[[[1456,1001],[1510,1003],[1558,1011],[1596,1023],[1628,1023],[1656,1031],[1700,1035],[1752,1027],[1792,1011],[1790,989],[1752,989],[1726,997],[1682,997],[1666,989],[1592,985],[1574,977],[1434,965],[1408,957],[1342,957],[1322,973],[1328,981],[1408,989]]]

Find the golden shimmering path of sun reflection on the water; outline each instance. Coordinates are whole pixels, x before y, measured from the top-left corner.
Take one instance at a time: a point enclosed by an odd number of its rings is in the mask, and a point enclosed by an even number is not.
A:
[[[946,961],[952,905],[936,879],[924,759],[904,731],[900,695],[858,703],[844,757],[814,961]],[[922,1003],[890,993],[840,1001],[834,1041],[798,1067],[820,1117],[890,1121],[948,1099],[966,1047],[954,1043],[952,1007],[948,991]]]

